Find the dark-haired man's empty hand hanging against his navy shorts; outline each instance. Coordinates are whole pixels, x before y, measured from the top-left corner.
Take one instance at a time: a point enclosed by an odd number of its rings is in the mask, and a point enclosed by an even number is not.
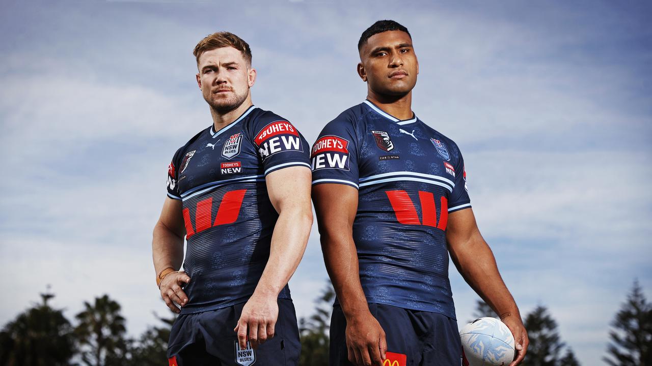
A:
[[[356,366],[382,366],[387,352],[385,331],[366,311],[346,320],[346,348],[349,361]]]

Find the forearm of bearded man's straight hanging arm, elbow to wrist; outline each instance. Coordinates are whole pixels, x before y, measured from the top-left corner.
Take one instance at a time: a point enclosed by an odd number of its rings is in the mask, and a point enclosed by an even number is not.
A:
[[[312,227],[312,210],[308,203],[303,208],[283,210],[278,216],[272,235],[269,260],[254,294],[278,296],[297,270],[308,244]]]

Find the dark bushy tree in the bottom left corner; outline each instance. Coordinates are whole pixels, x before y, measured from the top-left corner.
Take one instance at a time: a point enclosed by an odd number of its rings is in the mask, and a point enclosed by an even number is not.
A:
[[[68,365],[75,353],[72,326],[61,309],[48,305],[52,294],[27,309],[0,332],[0,359],[7,366]]]

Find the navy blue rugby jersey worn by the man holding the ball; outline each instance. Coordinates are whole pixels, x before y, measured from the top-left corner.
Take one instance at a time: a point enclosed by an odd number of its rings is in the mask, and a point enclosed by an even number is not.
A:
[[[367,302],[455,318],[446,223],[471,207],[457,145],[365,100],[325,126],[311,162],[312,184],[358,189],[353,240]]]

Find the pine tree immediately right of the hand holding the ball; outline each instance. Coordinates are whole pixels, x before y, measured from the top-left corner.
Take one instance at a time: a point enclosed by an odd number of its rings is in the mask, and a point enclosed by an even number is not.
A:
[[[559,338],[557,322],[548,314],[546,307],[539,305],[525,319],[524,325],[529,337],[524,366],[557,366],[559,352],[564,344]]]

